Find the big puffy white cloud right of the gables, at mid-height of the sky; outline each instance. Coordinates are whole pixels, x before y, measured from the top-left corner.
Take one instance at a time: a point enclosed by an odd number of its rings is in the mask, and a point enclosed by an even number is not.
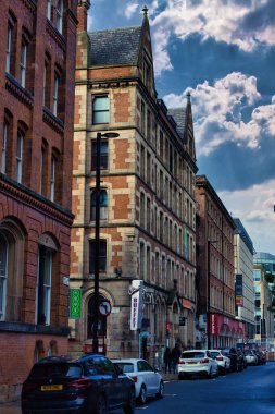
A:
[[[275,137],[275,96],[270,105],[251,108],[246,122],[242,111],[261,98],[257,78],[233,72],[210,85],[208,81],[189,88],[192,97],[197,154],[208,156],[221,144],[232,141],[249,148],[260,148],[263,136]],[[184,105],[187,89],[179,96],[164,97],[167,107]]]

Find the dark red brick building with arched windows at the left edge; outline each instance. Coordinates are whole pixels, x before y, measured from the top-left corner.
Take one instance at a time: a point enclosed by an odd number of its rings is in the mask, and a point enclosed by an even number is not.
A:
[[[67,351],[76,4],[0,8],[0,401]]]

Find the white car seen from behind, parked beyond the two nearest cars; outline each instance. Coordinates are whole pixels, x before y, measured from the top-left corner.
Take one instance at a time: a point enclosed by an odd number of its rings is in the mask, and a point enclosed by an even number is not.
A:
[[[178,361],[178,378],[189,375],[218,376],[218,365],[207,350],[184,351]]]

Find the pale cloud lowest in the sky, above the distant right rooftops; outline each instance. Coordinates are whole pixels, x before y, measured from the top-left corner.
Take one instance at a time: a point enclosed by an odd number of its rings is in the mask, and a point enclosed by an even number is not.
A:
[[[241,220],[254,248],[271,254],[275,253],[275,240],[271,236],[275,231],[274,188],[275,180],[271,180],[243,191],[218,192],[232,216]]]

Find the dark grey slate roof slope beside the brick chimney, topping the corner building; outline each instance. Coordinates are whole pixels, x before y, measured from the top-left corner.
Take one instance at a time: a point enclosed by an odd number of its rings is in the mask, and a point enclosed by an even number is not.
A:
[[[90,32],[89,65],[137,64],[142,26]]]

